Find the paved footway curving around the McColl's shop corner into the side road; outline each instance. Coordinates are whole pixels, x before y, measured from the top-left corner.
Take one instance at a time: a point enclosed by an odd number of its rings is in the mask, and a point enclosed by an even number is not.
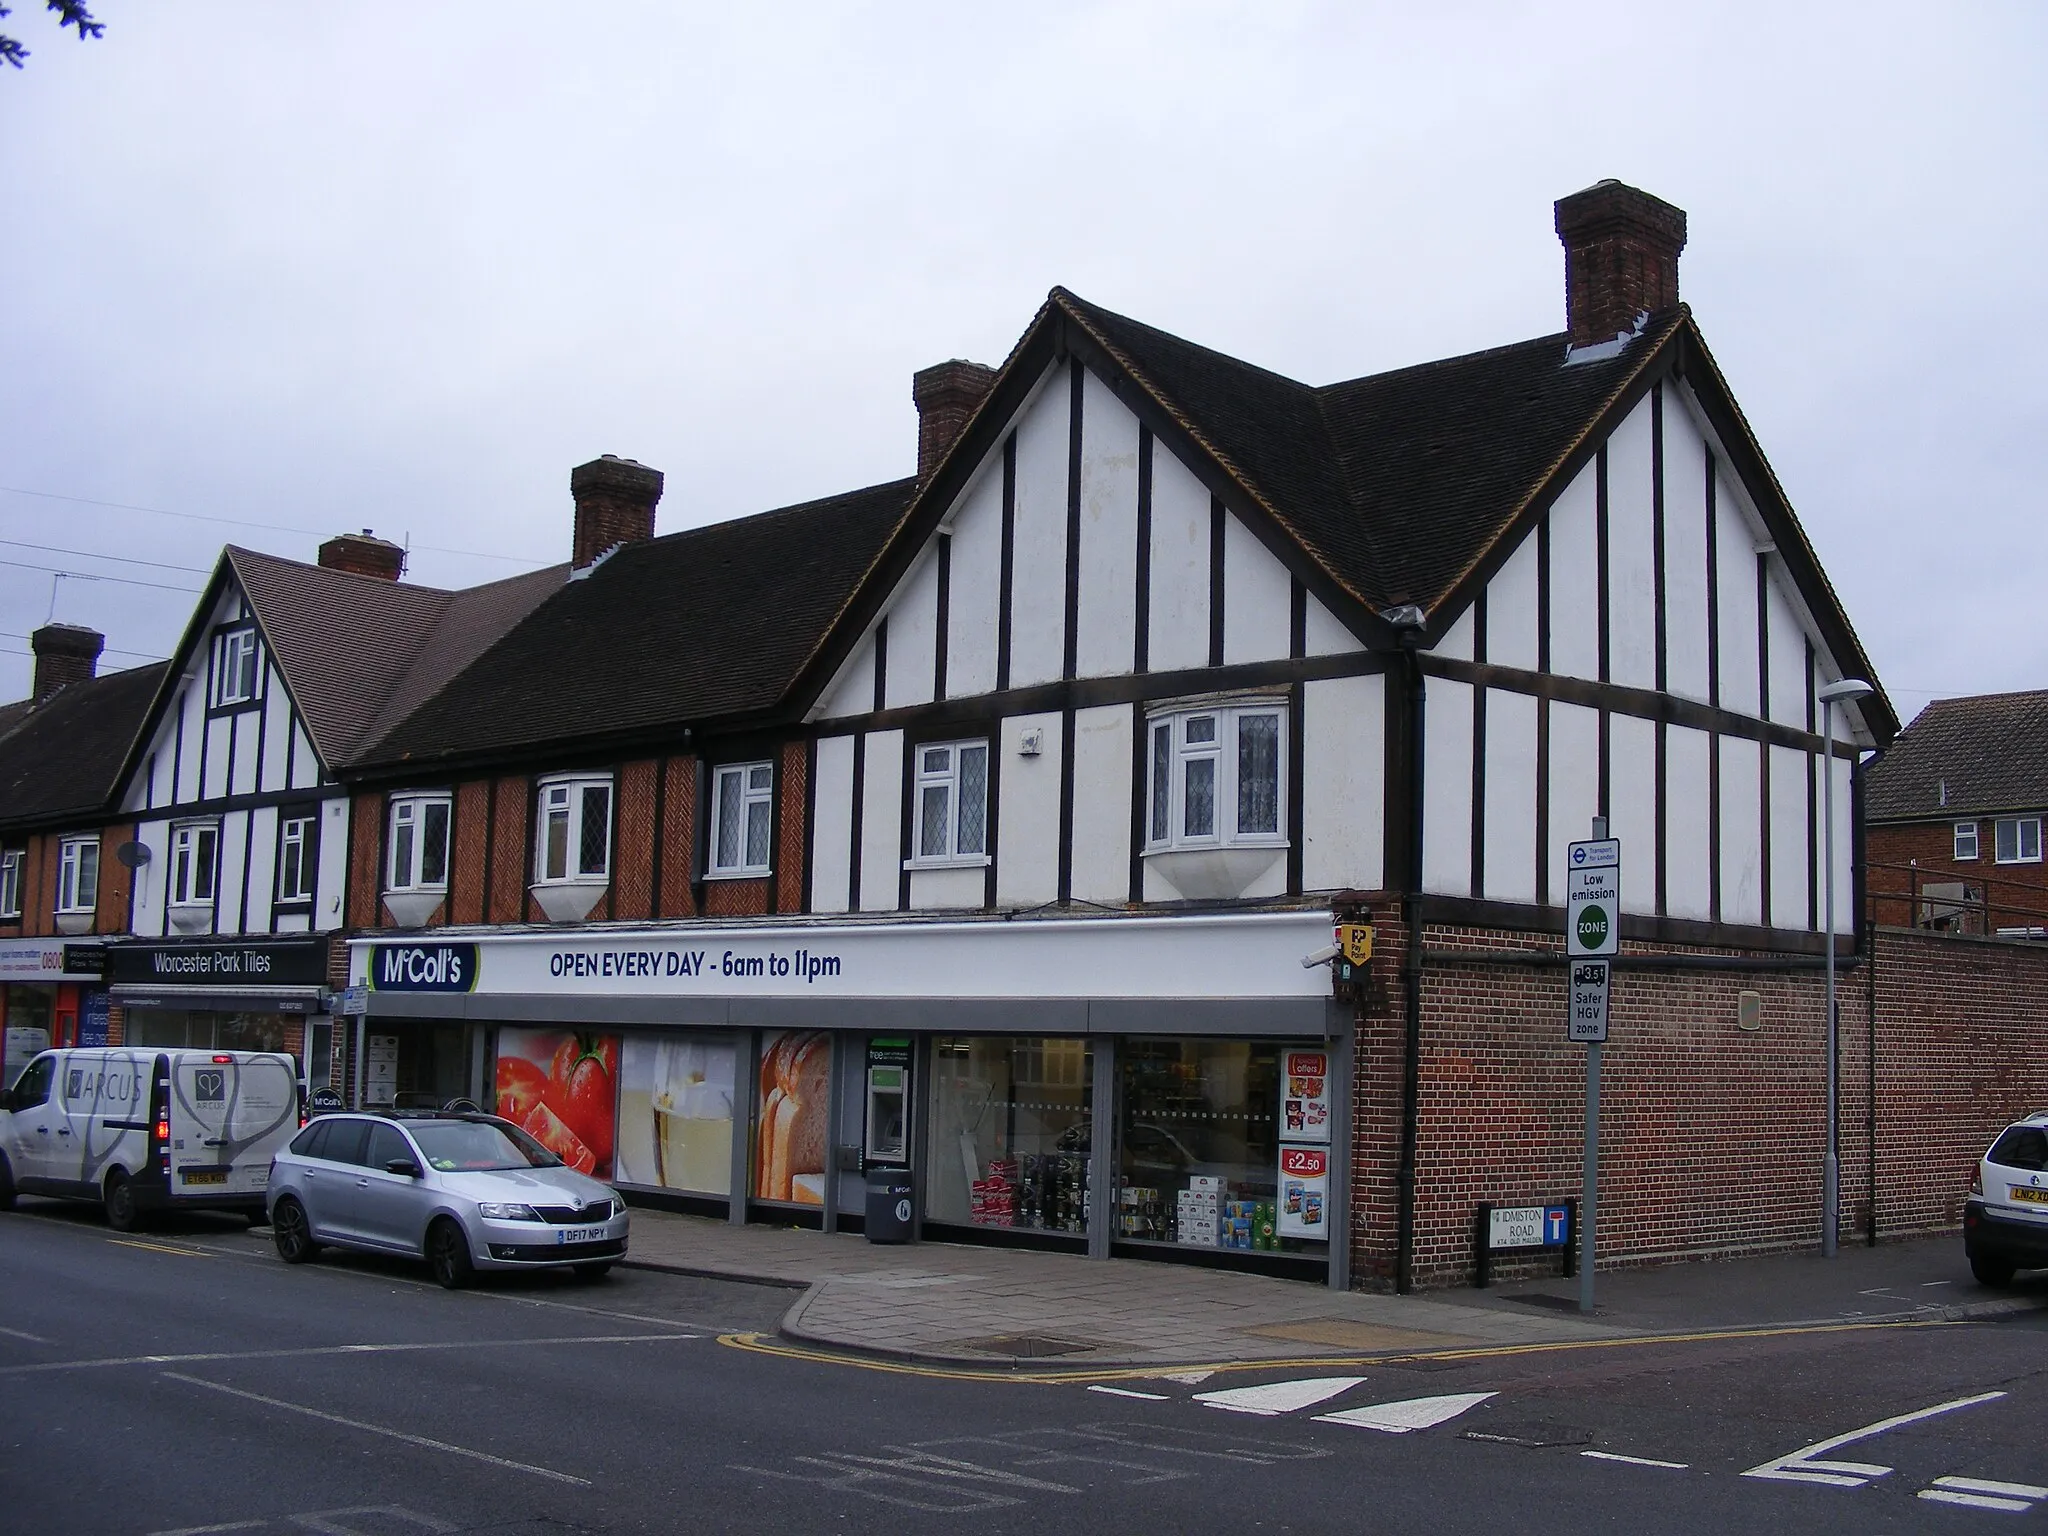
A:
[[[2048,1274],[1970,1278],[1960,1237],[1843,1247],[1835,1260],[1614,1270],[1415,1296],[1143,1260],[967,1243],[881,1245],[793,1227],[633,1212],[633,1266],[791,1286],[780,1335],[969,1368],[1204,1366],[1501,1350],[1661,1333],[1960,1321],[2048,1307]]]

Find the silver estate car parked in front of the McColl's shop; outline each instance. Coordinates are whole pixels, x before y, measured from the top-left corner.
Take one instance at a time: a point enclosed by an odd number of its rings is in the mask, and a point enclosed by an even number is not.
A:
[[[594,1178],[489,1114],[324,1114],[270,1159],[276,1253],[322,1245],[424,1257],[434,1278],[571,1270],[598,1280],[627,1251],[627,1208]]]

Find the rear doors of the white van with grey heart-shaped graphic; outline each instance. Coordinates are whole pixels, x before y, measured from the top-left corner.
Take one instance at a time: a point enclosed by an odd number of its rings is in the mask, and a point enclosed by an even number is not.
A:
[[[170,1194],[262,1194],[270,1155],[299,1130],[299,1071],[256,1051],[180,1051],[170,1063]]]

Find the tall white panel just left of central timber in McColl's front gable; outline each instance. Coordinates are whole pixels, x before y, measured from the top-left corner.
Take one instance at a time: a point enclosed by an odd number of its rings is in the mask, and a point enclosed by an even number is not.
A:
[[[1053,365],[1018,420],[1010,557],[1010,682],[1055,682],[1067,664],[1067,369]]]

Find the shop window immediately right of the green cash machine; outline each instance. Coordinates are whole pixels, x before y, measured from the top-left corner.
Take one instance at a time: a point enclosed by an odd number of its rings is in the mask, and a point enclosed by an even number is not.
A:
[[[932,1042],[930,1221],[1087,1233],[1087,1040]]]

